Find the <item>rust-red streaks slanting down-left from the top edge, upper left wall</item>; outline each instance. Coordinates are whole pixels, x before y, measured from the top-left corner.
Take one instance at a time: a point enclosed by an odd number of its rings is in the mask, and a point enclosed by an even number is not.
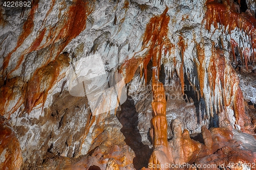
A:
[[[38,6],[38,4],[37,4]],[[33,7],[34,8],[34,7]],[[51,10],[51,8],[50,8]],[[50,11],[49,10],[49,11]],[[49,34],[46,35],[46,28],[42,29],[39,31],[39,36],[34,40],[34,42],[27,48],[20,58],[18,59],[18,62],[15,66],[14,69],[8,72],[7,76],[10,75],[14,70],[16,70],[20,64],[22,63],[24,56],[28,53],[31,53],[32,51],[37,51],[40,50],[41,48],[45,48],[49,45],[52,45],[53,43],[58,42],[59,40],[62,41],[62,43],[59,45],[57,49],[57,53],[54,56],[58,56],[62,50],[65,48],[65,46],[76,36],[80,34],[82,30],[86,28],[86,20],[87,16],[91,13],[88,9],[88,2],[87,1],[82,1],[82,0],[77,0],[74,2],[74,5],[72,5],[69,8],[69,11],[67,12],[66,17],[63,17],[64,19],[60,20],[57,24],[58,27],[53,27],[50,28]],[[33,16],[33,15],[32,15]],[[29,17],[30,25],[33,26],[33,18]],[[23,41],[28,37],[28,35],[32,32],[33,27],[27,23],[28,21],[25,22],[23,32],[24,35],[22,34],[18,40],[17,46],[14,49],[14,51],[17,50],[17,47],[19,47]],[[42,40],[47,37],[47,41],[44,44],[41,44]],[[13,52],[14,52],[13,51]],[[54,45],[51,47],[51,52],[55,51]],[[12,53],[13,53],[12,52]],[[11,57],[10,53],[7,57],[7,59]],[[53,57],[54,58],[54,57]],[[5,62],[5,67],[4,69],[8,66],[9,59]],[[48,60],[46,65],[50,62],[51,60]]]

